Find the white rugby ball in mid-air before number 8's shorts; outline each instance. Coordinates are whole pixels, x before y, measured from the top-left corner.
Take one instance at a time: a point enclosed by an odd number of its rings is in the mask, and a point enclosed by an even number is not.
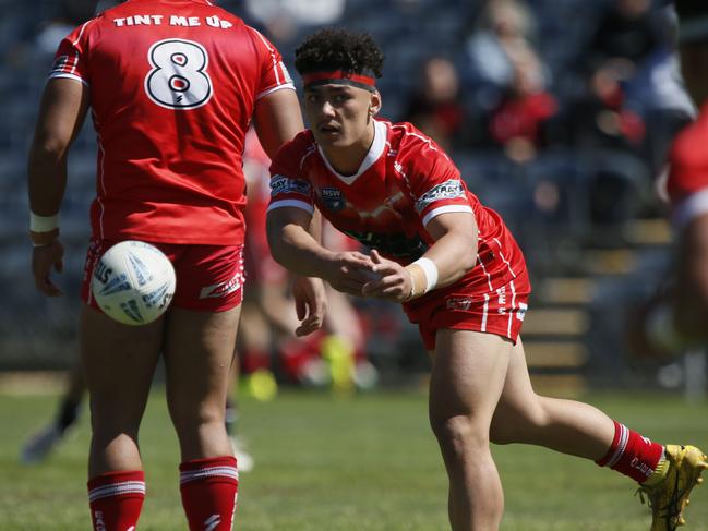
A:
[[[165,313],[175,294],[175,268],[149,243],[128,240],[100,257],[91,290],[106,315],[124,325],[141,326]]]

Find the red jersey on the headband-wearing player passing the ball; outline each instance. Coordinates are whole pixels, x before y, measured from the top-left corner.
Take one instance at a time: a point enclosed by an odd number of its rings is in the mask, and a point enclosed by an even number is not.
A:
[[[332,168],[310,131],[284,145],[271,167],[269,209],[313,212],[316,205],[337,229],[400,264],[419,258],[434,242],[425,230],[432,218],[468,212],[479,227],[478,261],[455,289],[493,291],[525,270],[524,255],[502,218],[467,190],[457,167],[431,138],[410,123],[374,124],[372,146],[353,176]]]

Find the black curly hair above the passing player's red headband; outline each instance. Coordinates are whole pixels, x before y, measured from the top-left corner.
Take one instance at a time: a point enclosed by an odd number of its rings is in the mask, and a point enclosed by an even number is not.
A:
[[[300,75],[326,70],[381,77],[384,55],[365,33],[326,28],[310,35],[295,50],[295,68]]]

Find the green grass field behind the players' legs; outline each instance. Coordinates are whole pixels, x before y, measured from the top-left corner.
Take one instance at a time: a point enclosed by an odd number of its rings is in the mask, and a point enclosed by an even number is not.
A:
[[[285,393],[242,401],[241,432],[256,459],[241,475],[235,529],[242,531],[446,530],[446,481],[421,393],[353,399]],[[662,442],[708,447],[708,405],[655,396],[587,397]],[[0,394],[0,530],[89,529],[87,419],[45,463],[19,463],[24,437],[53,412],[53,395]],[[164,395],[153,395],[142,433],[147,499],[140,530],[185,529],[178,451]],[[494,450],[506,495],[502,529],[646,531],[635,484],[591,462],[548,450]],[[686,531],[708,531],[708,488],[698,487]]]

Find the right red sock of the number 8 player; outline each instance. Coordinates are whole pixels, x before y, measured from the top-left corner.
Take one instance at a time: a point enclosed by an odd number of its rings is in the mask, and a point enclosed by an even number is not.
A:
[[[182,506],[191,531],[230,531],[239,472],[230,456],[180,464]]]

